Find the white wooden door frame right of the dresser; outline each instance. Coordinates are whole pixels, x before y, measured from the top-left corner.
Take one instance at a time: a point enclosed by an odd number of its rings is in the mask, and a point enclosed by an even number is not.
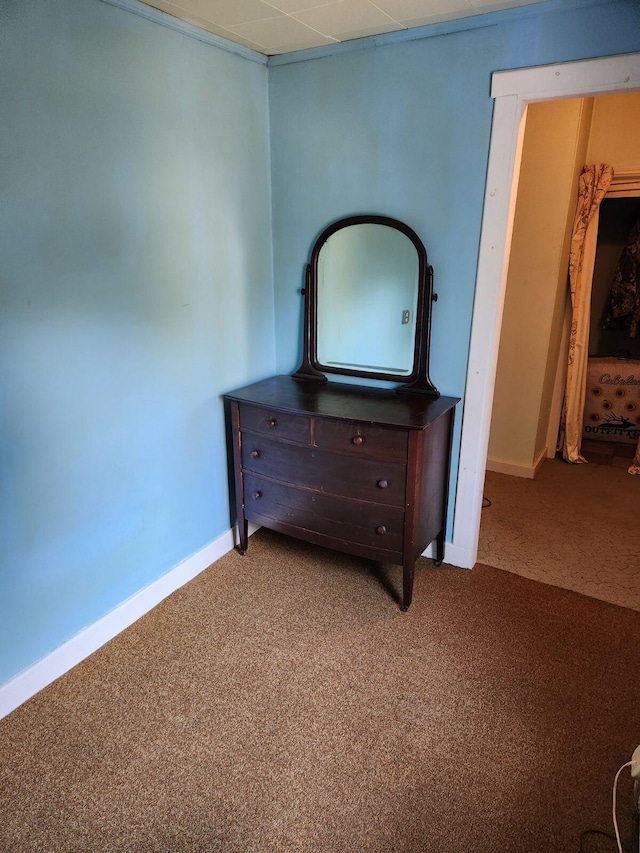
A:
[[[640,90],[640,53],[492,76],[495,99],[471,326],[453,538],[447,562],[475,565],[498,344],[527,105]]]

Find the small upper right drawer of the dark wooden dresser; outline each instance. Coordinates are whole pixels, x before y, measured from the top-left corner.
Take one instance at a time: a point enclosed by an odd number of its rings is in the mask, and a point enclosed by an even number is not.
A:
[[[314,436],[316,447],[325,450],[400,462],[407,458],[407,433],[401,429],[376,427],[360,421],[317,418]]]

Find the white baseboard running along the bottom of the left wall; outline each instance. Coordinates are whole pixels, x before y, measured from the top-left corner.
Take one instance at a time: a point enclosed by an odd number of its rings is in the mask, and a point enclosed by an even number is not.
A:
[[[249,534],[258,528],[249,525]],[[50,654],[0,686],[0,719],[15,710],[43,687],[60,678],[80,661],[108,643],[157,604],[203,572],[234,546],[235,531],[228,530],[187,557],[149,586],[123,601],[111,613],[83,629]]]

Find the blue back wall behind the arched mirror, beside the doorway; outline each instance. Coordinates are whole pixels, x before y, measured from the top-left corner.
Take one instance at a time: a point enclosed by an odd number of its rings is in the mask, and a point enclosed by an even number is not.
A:
[[[570,7],[570,8],[569,8]],[[491,134],[494,71],[640,50],[640,4],[565,3],[476,29],[271,68],[278,371],[300,359],[303,265],[335,219],[379,213],[426,244],[439,300],[431,379],[463,397]],[[468,24],[467,24],[468,25]],[[425,30],[426,32],[426,30]],[[434,27],[431,32],[438,32]],[[363,43],[364,44],[364,43]],[[456,443],[462,423],[458,407]],[[457,450],[452,466],[455,495]],[[450,503],[449,519],[453,515]]]

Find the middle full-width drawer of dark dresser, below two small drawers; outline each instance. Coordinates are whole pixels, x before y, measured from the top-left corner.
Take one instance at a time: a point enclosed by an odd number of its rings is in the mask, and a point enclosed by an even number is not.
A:
[[[389,506],[404,506],[406,466],[242,434],[242,468],[295,486]]]

